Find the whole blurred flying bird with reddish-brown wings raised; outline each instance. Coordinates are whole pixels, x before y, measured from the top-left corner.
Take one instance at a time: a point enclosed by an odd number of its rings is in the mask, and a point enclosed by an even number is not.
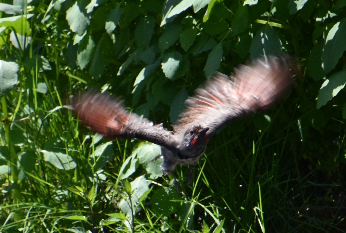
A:
[[[288,55],[267,56],[240,66],[228,77],[217,72],[186,100],[174,130],[129,113],[107,94],[86,92],[74,111],[94,131],[108,137],[138,138],[161,146],[163,173],[177,164],[196,165],[209,138],[230,121],[268,108],[290,87],[297,64]]]

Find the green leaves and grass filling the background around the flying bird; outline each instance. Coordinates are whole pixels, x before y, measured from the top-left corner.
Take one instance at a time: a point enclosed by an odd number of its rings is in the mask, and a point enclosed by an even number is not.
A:
[[[0,232],[346,232],[346,2],[0,3]],[[169,127],[216,70],[285,51],[277,106],[211,138],[182,194],[156,145],[78,122],[84,89]]]

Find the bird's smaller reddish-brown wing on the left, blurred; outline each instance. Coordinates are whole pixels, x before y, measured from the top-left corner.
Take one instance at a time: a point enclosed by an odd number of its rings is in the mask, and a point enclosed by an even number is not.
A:
[[[74,113],[92,130],[108,138],[124,137],[146,140],[166,148],[175,148],[172,132],[154,125],[146,118],[129,113],[122,101],[108,94],[89,91],[72,100]]]

